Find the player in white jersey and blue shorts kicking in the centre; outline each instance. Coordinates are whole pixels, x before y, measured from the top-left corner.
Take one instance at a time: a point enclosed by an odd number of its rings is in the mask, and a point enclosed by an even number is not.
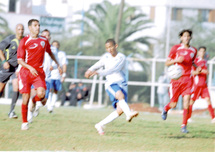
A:
[[[105,90],[112,101],[113,107],[116,109],[95,125],[100,135],[104,134],[104,125],[119,117],[123,112],[128,122],[139,114],[136,111],[132,112],[127,104],[126,57],[124,54],[117,52],[117,47],[118,45],[114,39],[108,39],[105,43],[107,53],[85,72],[86,78],[90,78],[95,74],[106,76]],[[98,70],[101,67],[104,67],[104,69]]]

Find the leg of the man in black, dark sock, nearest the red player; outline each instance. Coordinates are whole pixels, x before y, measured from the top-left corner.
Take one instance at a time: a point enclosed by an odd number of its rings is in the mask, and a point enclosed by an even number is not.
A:
[[[9,118],[15,118],[16,119],[16,118],[18,118],[18,116],[16,115],[14,108],[15,108],[16,102],[19,98],[18,78],[14,78],[12,80],[12,85],[13,85],[13,96],[12,96],[12,102],[11,102],[10,112],[9,112],[8,116],[9,116]]]

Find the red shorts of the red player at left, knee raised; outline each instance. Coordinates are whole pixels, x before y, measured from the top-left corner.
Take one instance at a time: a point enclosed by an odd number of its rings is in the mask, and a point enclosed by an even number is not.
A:
[[[45,72],[42,68],[36,70],[38,72],[38,76],[33,76],[28,69],[21,68],[18,78],[20,93],[30,93],[32,85],[35,89],[38,87],[43,87],[46,89]]]

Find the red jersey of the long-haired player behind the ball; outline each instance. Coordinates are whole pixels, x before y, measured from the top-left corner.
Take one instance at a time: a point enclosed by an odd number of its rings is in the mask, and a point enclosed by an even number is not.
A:
[[[196,58],[197,49],[194,47],[184,48],[183,44],[174,45],[169,53],[168,58],[170,60],[176,59],[179,56],[184,57],[184,61],[182,63],[177,63],[178,65],[183,67],[182,76],[190,76],[192,70],[192,64],[194,59]]]

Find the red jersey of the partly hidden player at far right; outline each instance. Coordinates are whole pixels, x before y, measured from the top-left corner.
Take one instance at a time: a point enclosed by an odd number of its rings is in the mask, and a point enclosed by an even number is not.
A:
[[[194,61],[194,63],[201,67],[202,70],[207,70],[207,61],[197,57]],[[193,70],[196,70],[196,67],[193,67]],[[197,86],[207,86],[207,74],[206,73],[200,73],[198,75],[194,76],[194,85]]]

